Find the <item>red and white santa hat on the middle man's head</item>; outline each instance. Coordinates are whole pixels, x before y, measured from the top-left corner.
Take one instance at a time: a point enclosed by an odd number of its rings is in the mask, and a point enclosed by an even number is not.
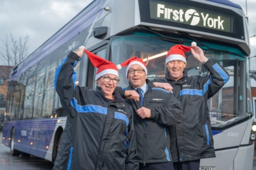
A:
[[[126,72],[125,72],[126,77],[127,77],[129,68],[130,68],[131,65],[133,65],[133,64],[138,64],[138,65],[140,65],[140,66],[144,69],[146,75],[148,75],[147,65],[145,64],[145,62],[144,62],[141,58],[138,58],[138,57],[136,57],[136,56],[134,56],[134,57],[132,57],[132,58],[129,58],[128,60],[124,61],[122,64],[118,64],[118,65],[117,65],[117,68],[118,68],[118,69],[121,69],[122,66],[127,66],[127,67],[126,67]]]

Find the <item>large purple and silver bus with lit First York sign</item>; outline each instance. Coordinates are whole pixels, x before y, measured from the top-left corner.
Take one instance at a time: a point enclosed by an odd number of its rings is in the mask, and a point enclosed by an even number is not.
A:
[[[164,77],[171,46],[195,41],[208,58],[231,76],[210,98],[209,116],[215,158],[202,159],[200,170],[252,169],[255,131],[251,102],[247,19],[239,5],[218,0],[95,0],[59,29],[9,77],[2,142],[12,155],[30,154],[54,162],[67,117],[54,90],[54,76],[64,57],[85,46],[116,65],[143,58],[148,79]],[[207,70],[186,53],[189,75]],[[75,68],[76,85],[96,87],[96,68],[84,55]],[[125,69],[118,86],[126,87]]]

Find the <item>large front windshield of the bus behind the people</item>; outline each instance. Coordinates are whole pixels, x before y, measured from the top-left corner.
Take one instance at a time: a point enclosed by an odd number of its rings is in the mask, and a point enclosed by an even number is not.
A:
[[[111,58],[115,64],[120,64],[133,56],[143,58],[148,68],[148,79],[164,78],[167,72],[165,66],[167,51],[177,43],[190,46],[191,42],[192,40],[189,42],[184,37],[182,39],[166,40],[154,34],[136,33],[114,36],[111,38]],[[204,50],[205,56],[214,58],[216,62],[224,66],[230,76],[225,86],[208,100],[209,116],[213,130],[222,130],[231,127],[237,121],[247,120],[251,117],[251,114],[249,114],[251,108],[247,106],[249,102],[246,97],[246,93],[250,93],[249,86],[246,83],[248,82],[246,81],[246,72],[244,72],[246,70],[244,69],[247,62],[246,57],[243,56],[240,50],[232,47],[207,42],[202,42],[202,44],[204,46],[199,46]],[[188,76],[209,74],[207,69],[195,60],[191,52],[186,53],[186,58],[188,60],[186,64]],[[122,87],[126,87],[128,83],[124,76],[125,69],[119,71],[119,86]],[[243,89],[244,86],[248,92],[239,93],[239,90]],[[239,105],[241,102],[244,102],[243,106]]]

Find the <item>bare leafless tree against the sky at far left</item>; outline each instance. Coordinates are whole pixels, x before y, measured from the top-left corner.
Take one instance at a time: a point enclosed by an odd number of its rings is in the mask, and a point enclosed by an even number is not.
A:
[[[11,33],[9,36],[6,34],[6,39],[2,40],[2,43],[0,55],[3,65],[15,66],[28,56],[28,35],[16,40]]]

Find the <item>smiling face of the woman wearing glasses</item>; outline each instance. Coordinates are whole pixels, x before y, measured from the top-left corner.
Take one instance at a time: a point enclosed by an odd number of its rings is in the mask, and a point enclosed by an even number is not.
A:
[[[102,88],[106,98],[114,99],[113,93],[116,88],[116,83],[114,83],[115,82],[114,79],[118,82],[118,76],[107,74],[107,75],[101,76],[96,80],[97,86]]]

